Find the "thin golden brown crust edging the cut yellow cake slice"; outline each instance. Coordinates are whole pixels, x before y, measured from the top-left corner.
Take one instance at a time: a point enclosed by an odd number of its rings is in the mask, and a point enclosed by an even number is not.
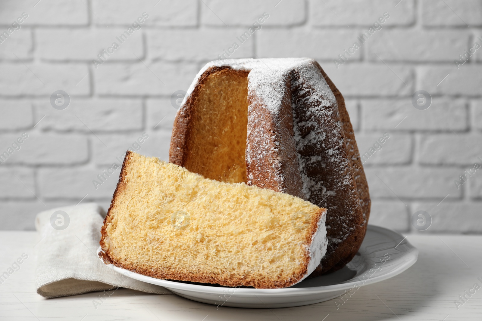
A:
[[[101,240],[100,245],[102,247],[103,252],[99,252],[98,256],[101,257],[105,264],[114,264],[115,266],[130,270],[135,273],[143,274],[149,277],[163,279],[163,280],[177,280],[177,281],[188,281],[188,282],[201,282],[201,283],[214,283],[220,284],[225,286],[253,286],[255,288],[282,288],[291,286],[297,282],[299,282],[302,278],[306,277],[308,272],[308,265],[310,262],[310,252],[309,248],[312,242],[315,241],[314,236],[318,231],[319,221],[322,219],[322,216],[326,213],[326,209],[320,208],[311,219],[310,225],[308,226],[308,231],[306,233],[305,241],[303,242],[302,246],[305,246],[305,256],[302,258],[303,263],[299,266],[299,269],[293,273],[290,278],[287,279],[280,279],[280,280],[268,280],[268,279],[257,279],[251,278],[250,276],[237,276],[237,275],[230,275],[229,278],[221,279],[219,275],[214,273],[182,273],[171,271],[167,269],[162,269],[161,267],[157,268],[147,268],[143,266],[137,266],[134,262],[127,262],[125,259],[120,260],[111,255],[110,253],[110,244],[107,246],[105,240],[108,238],[107,234],[107,224],[112,222],[113,218],[113,207],[115,206],[116,202],[120,197],[122,197],[122,193],[126,190],[126,182],[124,181],[124,177],[126,176],[127,169],[129,167],[129,160],[131,159],[132,152],[127,151],[124,161],[122,163],[122,168],[120,170],[119,182],[117,184],[117,188],[114,192],[114,196],[112,197],[112,203],[109,207],[107,212],[107,216],[104,219],[104,225],[101,229]]]

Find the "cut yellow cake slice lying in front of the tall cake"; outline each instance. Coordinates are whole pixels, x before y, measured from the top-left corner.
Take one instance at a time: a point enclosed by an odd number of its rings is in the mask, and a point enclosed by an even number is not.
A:
[[[326,209],[127,152],[102,227],[106,264],[159,279],[281,288],[326,252]]]

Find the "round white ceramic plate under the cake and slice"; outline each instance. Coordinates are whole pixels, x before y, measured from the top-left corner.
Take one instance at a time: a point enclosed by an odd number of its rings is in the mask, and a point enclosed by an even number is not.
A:
[[[99,247],[97,252],[100,252]],[[133,279],[161,285],[191,300],[238,308],[286,308],[323,302],[361,286],[387,280],[410,268],[418,250],[397,232],[369,225],[360,250],[341,270],[305,279],[283,289],[233,288],[209,283],[168,281],[151,278],[109,264]]]

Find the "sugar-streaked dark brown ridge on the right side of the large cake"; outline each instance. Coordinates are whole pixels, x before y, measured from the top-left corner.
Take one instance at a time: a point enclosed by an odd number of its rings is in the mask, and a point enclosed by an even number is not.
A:
[[[352,188],[353,170],[346,153],[336,99],[314,64],[295,70],[291,86],[294,139],[303,193],[310,202],[328,209],[329,240],[333,245],[339,244],[356,228],[356,206],[351,200],[358,195]]]

